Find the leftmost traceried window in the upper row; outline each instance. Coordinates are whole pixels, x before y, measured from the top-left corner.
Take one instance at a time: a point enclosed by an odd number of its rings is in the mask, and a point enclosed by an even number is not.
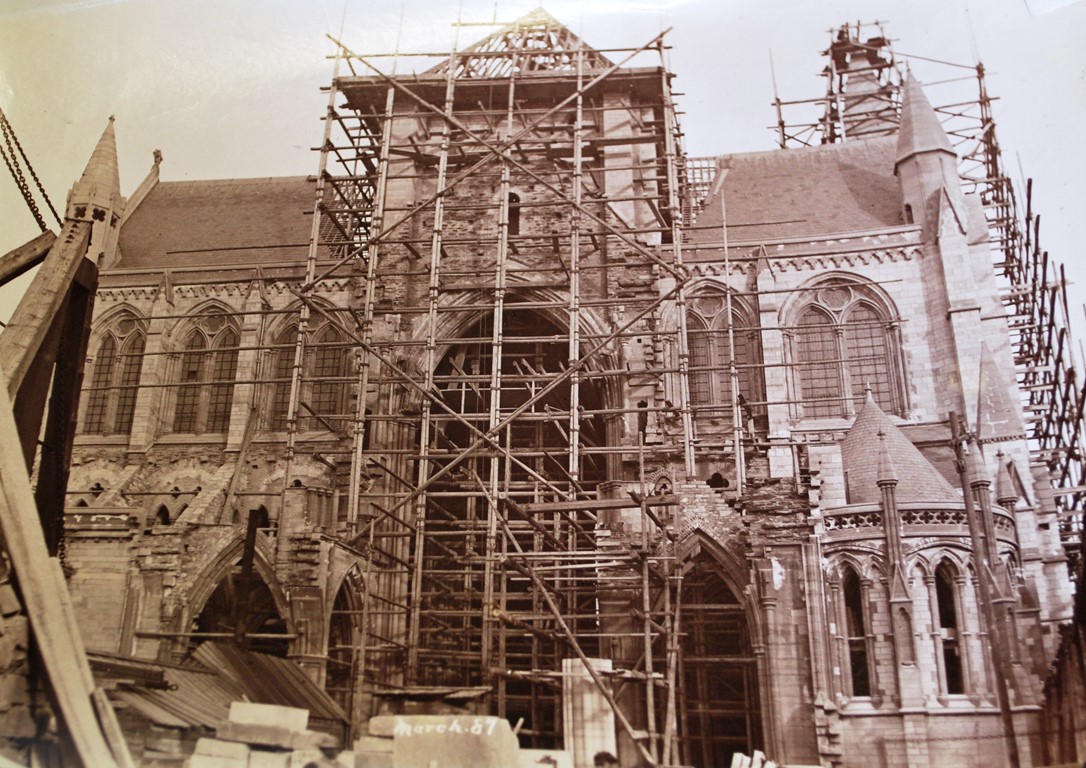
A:
[[[146,337],[125,314],[110,324],[98,344],[83,429],[89,435],[127,435],[136,412]]]

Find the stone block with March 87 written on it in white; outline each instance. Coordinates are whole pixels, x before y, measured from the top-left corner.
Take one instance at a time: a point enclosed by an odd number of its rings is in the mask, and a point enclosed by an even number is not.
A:
[[[392,754],[396,768],[509,768],[518,764],[520,745],[507,720],[464,715],[415,715],[394,718]]]

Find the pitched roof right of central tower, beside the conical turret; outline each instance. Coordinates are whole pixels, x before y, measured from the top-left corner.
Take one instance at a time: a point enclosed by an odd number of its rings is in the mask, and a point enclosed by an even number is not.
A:
[[[718,159],[736,241],[822,238],[905,224],[893,136]],[[702,207],[692,239],[719,242],[720,196]],[[706,228],[707,227],[707,228]]]

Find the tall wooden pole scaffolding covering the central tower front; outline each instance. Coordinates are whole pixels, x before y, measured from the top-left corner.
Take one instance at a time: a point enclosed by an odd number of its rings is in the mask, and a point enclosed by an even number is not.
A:
[[[319,315],[357,355],[356,712],[483,697],[525,743],[560,745],[579,659],[620,733],[671,764],[679,507],[646,467],[690,475],[692,415],[627,396],[667,378],[690,401],[664,36],[598,51],[536,11],[406,76],[336,43],[288,423]],[[352,306],[316,299],[344,276]],[[652,380],[631,382],[634,343]]]

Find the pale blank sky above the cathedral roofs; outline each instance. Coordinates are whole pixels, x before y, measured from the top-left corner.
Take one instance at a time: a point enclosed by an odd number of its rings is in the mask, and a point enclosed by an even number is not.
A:
[[[162,149],[165,180],[312,174],[332,51],[447,50],[452,23],[508,22],[534,0],[0,0],[0,105],[61,209],[116,116],[122,191]],[[671,27],[686,149],[772,149],[769,56],[782,99],[817,97],[829,29],[882,21],[898,53],[984,62],[1005,162],[1035,179],[1041,242],[1068,266],[1086,339],[1086,259],[1073,228],[1086,202],[1086,2],[1061,0],[550,0],[596,48],[636,47]],[[1031,15],[1030,8],[1037,15]],[[345,21],[344,21],[345,20]],[[462,28],[465,45],[489,27]],[[975,40],[975,43],[974,43]],[[912,62],[931,81],[948,70]],[[402,72],[403,70],[401,70]],[[962,74],[968,74],[962,71]],[[933,101],[938,98],[933,95]],[[38,229],[0,168],[0,253]],[[1078,215],[1076,215],[1078,214]],[[193,226],[200,226],[193,222]],[[0,294],[0,319],[11,312]],[[1076,344],[1078,342],[1076,341]],[[1078,355],[1076,355],[1077,357]]]

